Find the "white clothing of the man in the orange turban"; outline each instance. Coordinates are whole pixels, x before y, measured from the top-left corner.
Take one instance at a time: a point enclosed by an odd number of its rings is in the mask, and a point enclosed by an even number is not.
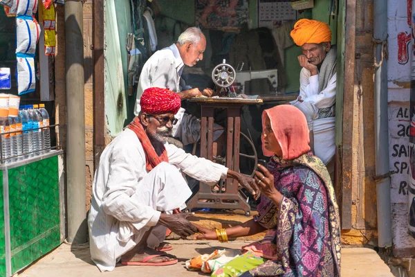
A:
[[[291,105],[306,116],[308,129],[314,134],[314,154],[327,164],[335,154],[335,117],[319,119],[318,111],[335,103],[336,73],[327,87],[318,93],[318,74],[311,76],[310,71],[303,67],[299,73],[299,85],[299,96]]]

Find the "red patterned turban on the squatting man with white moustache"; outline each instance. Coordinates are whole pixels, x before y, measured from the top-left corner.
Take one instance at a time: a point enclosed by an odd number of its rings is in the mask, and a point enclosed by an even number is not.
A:
[[[140,106],[141,111],[146,114],[176,114],[180,109],[181,99],[169,89],[150,87],[142,93]]]

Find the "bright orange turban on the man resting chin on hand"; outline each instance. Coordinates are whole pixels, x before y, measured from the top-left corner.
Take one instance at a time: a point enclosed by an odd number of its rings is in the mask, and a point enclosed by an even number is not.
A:
[[[331,30],[329,25],[322,21],[299,19],[291,31],[291,37],[298,46],[306,43],[320,44],[331,42]]]

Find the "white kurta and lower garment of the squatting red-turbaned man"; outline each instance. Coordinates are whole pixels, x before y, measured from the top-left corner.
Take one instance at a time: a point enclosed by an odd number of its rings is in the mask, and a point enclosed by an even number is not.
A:
[[[116,259],[132,249],[160,211],[184,205],[191,195],[181,172],[214,185],[228,168],[165,145],[169,163],[147,172],[145,152],[136,134],[125,129],[105,148],[93,181],[88,225],[91,258],[101,271],[111,271]]]

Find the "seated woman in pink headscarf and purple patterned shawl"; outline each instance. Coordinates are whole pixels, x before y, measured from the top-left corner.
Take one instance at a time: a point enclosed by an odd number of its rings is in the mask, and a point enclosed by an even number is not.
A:
[[[262,126],[262,148],[272,157],[255,172],[258,215],[225,231],[228,238],[268,231],[212,276],[340,276],[338,205],[329,172],[310,152],[304,114],[279,105],[264,111]],[[218,238],[198,228],[198,239]]]

